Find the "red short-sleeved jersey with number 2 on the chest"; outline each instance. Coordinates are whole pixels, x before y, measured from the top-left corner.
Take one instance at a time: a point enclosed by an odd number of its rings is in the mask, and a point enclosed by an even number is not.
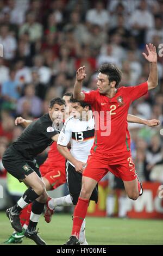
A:
[[[148,92],[148,84],[121,87],[111,99],[98,90],[84,92],[84,101],[90,103],[95,115],[96,153],[120,153],[130,150],[130,135],[127,124],[128,109],[134,100]]]

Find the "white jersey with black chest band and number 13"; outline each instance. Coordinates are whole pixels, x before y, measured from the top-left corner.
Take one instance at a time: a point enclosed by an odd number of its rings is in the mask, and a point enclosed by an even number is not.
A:
[[[78,161],[86,163],[94,142],[94,136],[95,122],[93,116],[88,121],[80,121],[71,116],[65,121],[57,144],[67,146],[71,142],[71,155]]]

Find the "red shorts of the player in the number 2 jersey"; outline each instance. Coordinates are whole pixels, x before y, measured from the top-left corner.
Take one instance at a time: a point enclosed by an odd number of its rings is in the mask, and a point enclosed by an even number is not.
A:
[[[135,180],[135,165],[130,151],[115,154],[92,153],[87,160],[83,176],[99,182],[109,171],[124,181]]]

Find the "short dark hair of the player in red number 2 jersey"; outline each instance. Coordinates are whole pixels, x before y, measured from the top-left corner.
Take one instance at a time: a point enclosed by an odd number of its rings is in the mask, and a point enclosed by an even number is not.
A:
[[[101,67],[98,70],[102,74],[105,74],[108,76],[109,82],[116,82],[115,87],[117,88],[121,79],[122,79],[122,72],[120,69],[117,68],[116,65],[112,63],[107,63],[101,65]]]

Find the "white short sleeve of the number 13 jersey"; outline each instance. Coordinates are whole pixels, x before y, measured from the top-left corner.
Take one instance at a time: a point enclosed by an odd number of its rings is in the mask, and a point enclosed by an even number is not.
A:
[[[72,136],[72,131],[71,131],[70,123],[68,123],[68,120],[67,120],[67,122],[65,122],[64,127],[62,128],[59,134],[57,144],[61,146],[67,146],[68,142],[70,142],[71,140],[71,136]]]

